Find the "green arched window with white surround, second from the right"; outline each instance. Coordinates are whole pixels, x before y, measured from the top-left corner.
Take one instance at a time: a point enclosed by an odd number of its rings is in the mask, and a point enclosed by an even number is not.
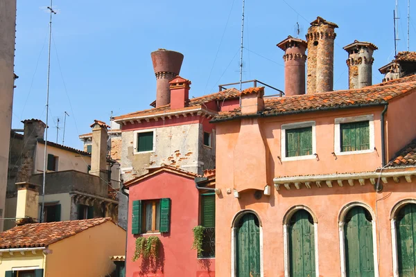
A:
[[[375,222],[369,208],[364,204],[350,204],[341,215],[342,276],[378,276]]]

